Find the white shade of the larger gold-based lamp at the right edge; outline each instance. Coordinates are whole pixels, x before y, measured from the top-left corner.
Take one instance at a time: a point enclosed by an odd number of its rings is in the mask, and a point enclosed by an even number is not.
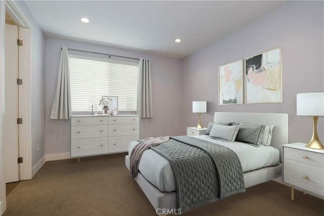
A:
[[[324,116],[324,92],[297,94],[297,115]]]

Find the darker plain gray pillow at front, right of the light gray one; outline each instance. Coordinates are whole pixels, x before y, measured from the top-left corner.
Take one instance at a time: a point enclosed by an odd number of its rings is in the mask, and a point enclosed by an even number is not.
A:
[[[250,143],[259,146],[261,144],[264,125],[240,125],[236,140],[240,142]]]

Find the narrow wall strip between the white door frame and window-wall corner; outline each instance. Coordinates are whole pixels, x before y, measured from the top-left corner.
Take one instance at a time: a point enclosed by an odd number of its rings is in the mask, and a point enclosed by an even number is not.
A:
[[[16,1],[32,25],[31,145],[32,166],[45,155],[45,35],[23,1]],[[37,145],[39,152],[37,152]]]

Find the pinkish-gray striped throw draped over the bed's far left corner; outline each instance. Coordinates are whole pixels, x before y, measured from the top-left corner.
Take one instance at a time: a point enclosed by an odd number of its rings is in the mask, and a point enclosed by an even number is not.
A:
[[[147,149],[149,149],[151,146],[156,146],[158,144],[167,142],[170,139],[170,137],[157,137],[157,138],[146,138],[144,140],[140,140],[139,144],[137,144],[131,154],[130,158],[130,176],[132,178],[137,177],[138,174],[138,164],[140,162],[140,159]]]

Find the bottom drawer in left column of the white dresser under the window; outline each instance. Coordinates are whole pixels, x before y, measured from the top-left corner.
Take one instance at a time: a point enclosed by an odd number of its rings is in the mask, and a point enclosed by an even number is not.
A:
[[[108,153],[108,137],[71,140],[71,157]]]

